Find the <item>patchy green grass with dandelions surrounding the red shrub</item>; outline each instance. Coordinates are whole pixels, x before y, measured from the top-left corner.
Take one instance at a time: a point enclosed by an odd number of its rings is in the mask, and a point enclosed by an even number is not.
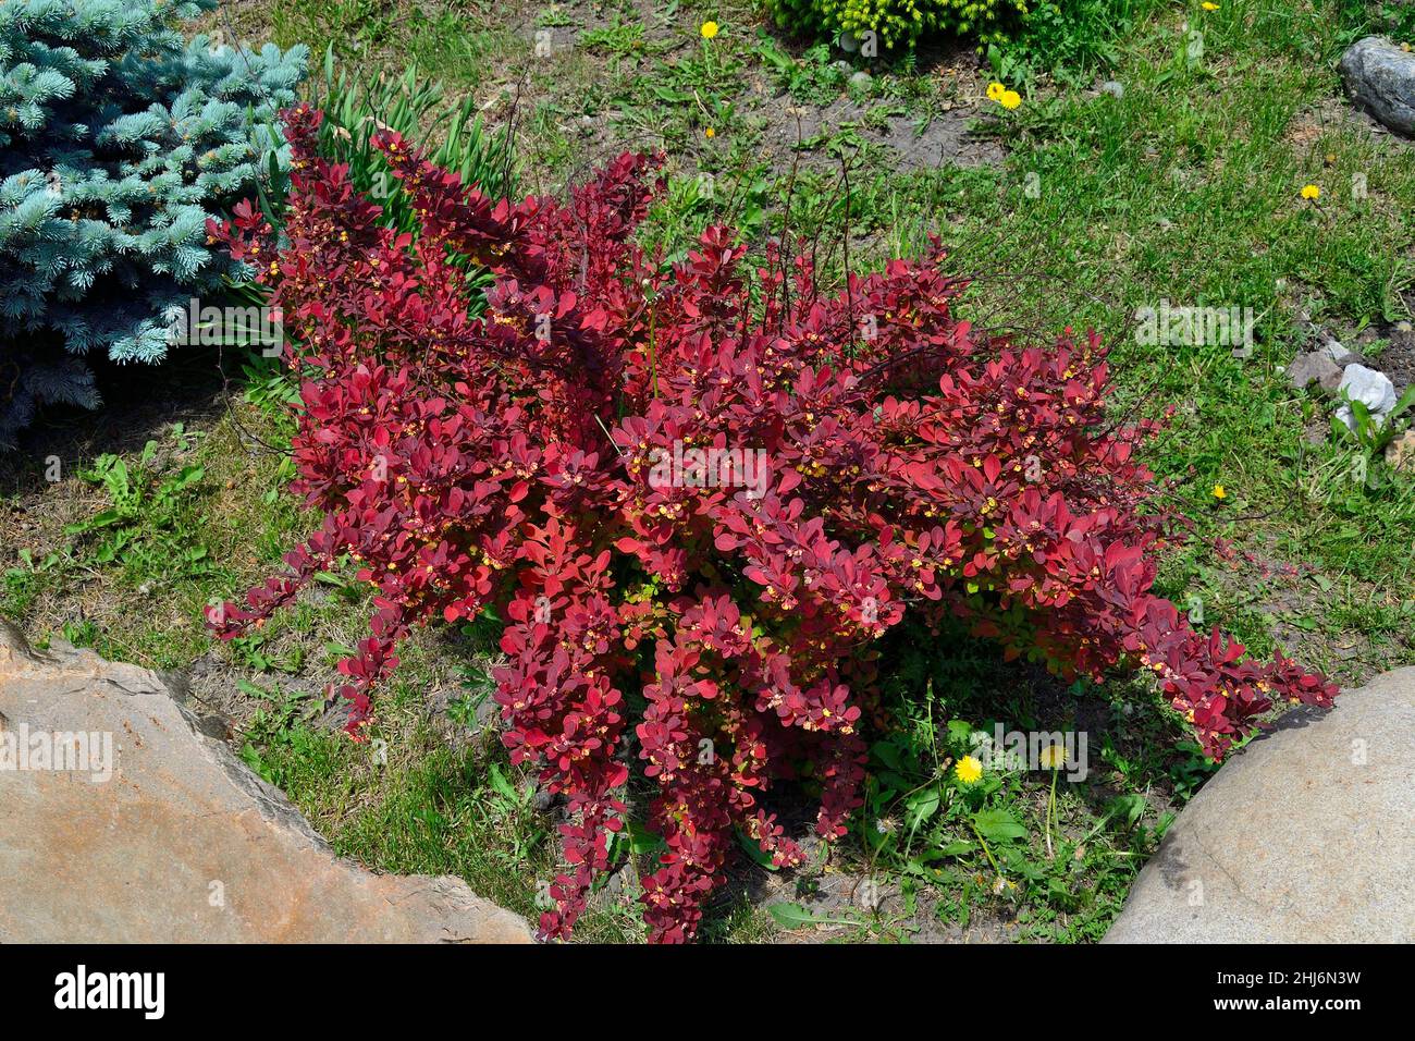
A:
[[[1343,337],[1408,317],[1415,150],[1350,118],[1333,71],[1373,13],[1350,0],[1058,7],[1080,23],[1039,18],[981,71],[899,59],[872,69],[865,86],[848,85],[828,48],[758,33],[746,3],[641,21],[628,3],[590,11],[296,0],[243,6],[238,34],[317,54],[333,44],[361,74],[416,61],[451,98],[488,103],[492,126],[519,92],[525,190],[583,176],[625,142],[662,146],[669,183],[642,238],[669,259],[706,225],[730,221],[756,241],[782,231],[818,238],[824,278],[839,283],[845,228],[855,269],[916,254],[941,234],[955,269],[976,276],[969,317],[1043,343],[1067,324],[1095,326],[1114,350],[1118,408],[1160,418],[1173,405],[1139,452],[1191,518],[1160,585],[1196,622],[1201,612],[1254,653],[1300,652],[1344,683],[1415,661],[1415,484],[1377,456],[1364,459],[1374,479],[1353,480],[1363,449],[1329,436],[1329,404],[1292,391],[1279,371],[1303,346],[1300,312]],[[705,48],[696,27],[709,14],[723,33]],[[573,45],[538,58],[538,28]],[[1415,23],[1391,31],[1409,38]],[[1019,109],[981,101],[992,76],[1023,92]],[[1098,78],[1124,84],[1124,96],[1098,95]],[[773,136],[794,126],[787,106],[842,98],[856,115],[836,130],[805,135],[801,147],[794,130],[787,146]],[[1000,163],[904,169],[872,137],[896,123],[927,135],[958,110],[1005,150]],[[1351,191],[1357,174],[1364,197]],[[1322,188],[1317,201],[1300,197],[1305,184]],[[1252,354],[1138,343],[1136,309],[1166,299],[1251,306]],[[366,618],[366,592],[347,576],[256,636],[214,647],[205,635],[202,605],[277,569],[311,524],[282,490],[289,463],[250,436],[273,446],[289,436],[289,385],[259,368],[242,385],[246,397],[229,411],[164,423],[151,453],[100,462],[96,446],[67,460],[54,484],[37,476],[42,460],[27,460],[0,486],[0,506],[35,518],[13,551],[6,544],[0,612],[38,639],[64,636],[158,669],[222,663],[245,684],[225,711],[248,762],[340,853],[381,870],[458,874],[533,914],[555,870],[555,816],[536,809],[532,779],[494,739],[466,734],[463,698],[485,693],[484,642],[410,642],[379,705],[374,736],[385,762],[321,722],[318,694]],[[1310,443],[1313,432],[1326,436]],[[1218,483],[1223,501],[1210,494]],[[65,534],[72,525],[83,530]],[[825,868],[773,882],[775,902],[809,914],[843,871],[880,877],[899,895],[879,915],[836,909],[841,922],[822,935],[917,939],[925,915],[1019,939],[1098,939],[1169,814],[1213,772],[1179,721],[1138,681],[1058,690],[965,640],[911,635],[886,660],[896,728],[872,753],[884,779]],[[430,694],[449,690],[457,707],[430,712]],[[949,773],[959,742],[995,722],[1087,729],[1091,776],[1060,782],[1054,813],[1046,772],[998,770],[961,790]],[[995,833],[988,850],[975,830],[981,813]],[[993,861],[1016,888],[993,892]],[[782,923],[737,888],[715,905],[705,936],[773,938],[799,923],[791,914],[778,906]],[[631,901],[606,897],[580,936],[640,932]]]

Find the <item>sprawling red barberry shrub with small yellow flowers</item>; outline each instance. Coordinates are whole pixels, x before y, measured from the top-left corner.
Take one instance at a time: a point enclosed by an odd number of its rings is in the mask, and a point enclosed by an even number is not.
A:
[[[297,344],[294,487],[324,523],[212,623],[233,636],[358,561],[378,593],[340,664],[357,735],[412,626],[494,606],[505,744],[567,800],[545,933],[608,865],[635,759],[665,841],[644,880],[657,940],[693,936],[739,834],[801,860],[775,782],[804,780],[818,831],[843,834],[874,647],[907,610],[1064,677],[1153,670],[1214,756],[1279,698],[1332,702],[1150,592],[1169,525],[1132,455],[1149,426],[1109,422],[1094,336],[976,331],[941,252],[833,296],[780,248],[750,268],[726,228],[665,266],[631,238],[659,188],[644,156],[516,204],[383,133],[422,222],[400,235],[314,154],[318,113],[286,118],[287,238],[250,208],[211,234]],[[475,319],[468,258],[494,275]]]

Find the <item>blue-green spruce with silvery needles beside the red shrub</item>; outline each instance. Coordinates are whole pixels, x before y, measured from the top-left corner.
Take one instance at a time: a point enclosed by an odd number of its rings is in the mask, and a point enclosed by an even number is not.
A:
[[[0,445],[40,405],[98,402],[81,355],[160,361],[164,313],[238,271],[207,218],[279,163],[306,51],[185,40],[215,6],[0,4]]]

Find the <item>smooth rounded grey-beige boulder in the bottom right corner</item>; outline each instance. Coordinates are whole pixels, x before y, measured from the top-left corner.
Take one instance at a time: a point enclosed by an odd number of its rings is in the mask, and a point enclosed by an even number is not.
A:
[[[1299,710],[1224,763],[1105,943],[1415,940],[1415,669]]]

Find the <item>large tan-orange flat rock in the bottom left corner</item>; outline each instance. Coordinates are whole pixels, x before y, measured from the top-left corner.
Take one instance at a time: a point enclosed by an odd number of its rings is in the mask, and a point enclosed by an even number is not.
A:
[[[3,619],[0,731],[0,942],[532,940],[458,878],[337,858],[153,673]]]

